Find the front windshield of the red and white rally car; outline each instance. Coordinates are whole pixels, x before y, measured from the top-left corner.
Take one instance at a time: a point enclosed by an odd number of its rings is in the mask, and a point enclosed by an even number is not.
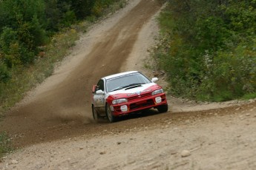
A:
[[[144,75],[140,74],[139,72],[129,74],[129,75],[122,75],[116,78],[108,79],[106,82],[107,92],[113,92],[118,89],[123,88],[132,88],[135,86],[140,86],[141,84],[149,84],[151,83],[148,78]]]

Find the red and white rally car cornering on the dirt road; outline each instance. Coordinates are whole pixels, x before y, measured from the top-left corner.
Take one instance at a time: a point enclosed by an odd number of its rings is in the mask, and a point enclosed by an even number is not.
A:
[[[121,72],[101,78],[93,86],[92,112],[94,120],[107,116],[110,122],[117,117],[155,108],[168,111],[163,88],[138,71]]]

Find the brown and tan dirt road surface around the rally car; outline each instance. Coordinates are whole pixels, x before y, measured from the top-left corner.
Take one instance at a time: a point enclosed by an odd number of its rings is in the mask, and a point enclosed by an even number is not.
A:
[[[161,7],[130,0],[82,35],[53,76],[0,122],[18,147],[0,169],[256,169],[255,100],[193,103],[170,95],[167,113],[93,122],[91,86],[99,78],[128,70],[154,76],[143,66]]]

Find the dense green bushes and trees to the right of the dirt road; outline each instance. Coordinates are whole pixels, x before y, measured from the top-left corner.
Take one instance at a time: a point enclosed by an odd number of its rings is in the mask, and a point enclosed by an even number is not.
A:
[[[174,95],[229,101],[256,92],[256,1],[171,0],[155,52]]]

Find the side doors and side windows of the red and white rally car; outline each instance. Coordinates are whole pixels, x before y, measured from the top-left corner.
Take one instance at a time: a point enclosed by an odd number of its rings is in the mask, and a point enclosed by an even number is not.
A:
[[[98,84],[96,85],[96,90],[93,95],[93,103],[96,109],[96,112],[99,115],[105,114],[105,88],[104,88],[104,81],[102,79],[99,80]]]

